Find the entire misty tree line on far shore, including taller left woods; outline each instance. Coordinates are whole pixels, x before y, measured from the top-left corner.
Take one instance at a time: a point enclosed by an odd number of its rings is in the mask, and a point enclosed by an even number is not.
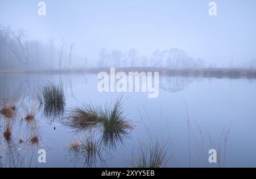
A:
[[[40,70],[40,69],[72,69],[86,68],[88,61],[84,57],[76,59],[75,44],[69,44],[62,38],[60,41],[49,39],[47,42],[28,39],[26,31],[13,31],[0,24],[0,70]],[[121,50],[101,49],[97,67],[166,67],[170,69],[203,68],[205,62],[201,58],[193,58],[184,50],[171,48],[155,50],[145,56],[137,49],[127,52]],[[256,59],[244,62],[241,67],[256,68]],[[90,65],[95,65],[90,64]],[[216,65],[209,65],[215,68]],[[228,68],[234,68],[233,57]]]

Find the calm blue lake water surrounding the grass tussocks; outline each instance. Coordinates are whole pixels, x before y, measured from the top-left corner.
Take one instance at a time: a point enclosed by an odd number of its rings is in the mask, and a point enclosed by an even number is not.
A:
[[[166,144],[166,167],[256,167],[256,81],[162,76],[159,97],[147,93],[123,93],[123,112],[134,129],[116,147],[106,147],[92,165],[69,144],[97,140],[100,130],[76,132],[60,121],[36,110],[36,129],[24,118],[24,111],[36,101],[38,89],[53,82],[67,92],[65,112],[80,103],[105,104],[121,93],[100,93],[97,75],[1,75],[0,98],[10,97],[17,106],[10,142],[0,136],[1,167],[131,167],[139,144]],[[187,109],[186,109],[187,105]],[[188,127],[188,118],[189,126]],[[1,125],[5,121],[1,116]],[[3,126],[3,125],[2,125]],[[190,131],[190,132],[189,132]],[[39,136],[31,144],[30,136]],[[225,140],[226,136],[226,140]],[[19,140],[24,140],[19,143]],[[27,141],[27,142],[26,142]],[[38,163],[38,150],[46,150],[46,163]],[[219,164],[210,164],[208,151],[215,148]]]

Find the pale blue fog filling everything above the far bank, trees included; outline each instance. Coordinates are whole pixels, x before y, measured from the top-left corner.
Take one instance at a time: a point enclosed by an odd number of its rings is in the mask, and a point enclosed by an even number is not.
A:
[[[38,2],[1,0],[1,70],[256,66],[254,0],[216,0],[217,16],[206,0]],[[160,58],[177,52],[185,65]]]

